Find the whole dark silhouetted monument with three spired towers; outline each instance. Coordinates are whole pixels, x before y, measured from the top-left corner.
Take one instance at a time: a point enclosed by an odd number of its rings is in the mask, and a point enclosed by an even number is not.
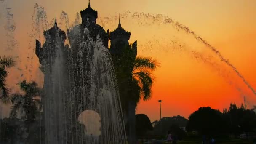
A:
[[[102,73],[107,74],[111,71],[107,66],[107,63],[112,63],[109,58],[112,55],[114,65],[118,66],[118,64],[121,64],[120,60],[125,60],[121,59],[125,48],[129,47],[129,51],[133,53],[132,59],[135,59],[137,55],[136,42],[133,43],[132,47],[129,46],[128,40],[131,33],[126,32],[121,27],[120,18],[117,29],[110,32],[109,37],[109,30],[106,32],[103,27],[96,24],[98,12],[91,8],[90,1],[88,8],[80,11],[80,14],[82,24],[73,27],[71,30],[68,29],[67,36],[55,21],[54,26],[44,32],[45,43],[42,48],[40,42],[36,40],[36,55],[41,64],[40,69],[45,75],[42,103],[46,106],[43,107],[42,141],[50,144],[60,144],[65,141],[68,144],[78,144],[80,142],[85,144],[86,141],[88,142],[87,138],[84,138],[84,126],[77,123],[77,118],[81,112],[88,109],[99,114],[106,111],[104,107],[107,106],[102,106],[102,108],[98,106],[102,100],[101,97],[98,98],[97,96],[101,95],[101,92],[95,89],[103,88],[104,91],[104,85],[110,85],[106,84],[110,83],[107,77],[101,76]],[[67,37],[70,48],[69,45],[64,45]],[[110,48],[108,48],[109,39],[111,40]],[[99,50],[100,43],[106,48],[107,53]],[[95,65],[92,61],[94,61],[97,54],[107,56],[104,58],[107,61],[105,61],[105,64],[97,64],[96,66],[99,68],[94,69]],[[131,62],[126,64],[127,67],[131,66]],[[131,67],[128,69],[127,67],[125,66],[123,71],[131,72]],[[92,74],[92,72],[95,73]],[[96,95],[96,97],[91,99],[92,95]],[[59,104],[59,101],[61,101],[61,104]],[[86,104],[81,104],[82,102]],[[110,112],[109,115],[112,115],[112,113]],[[114,128],[115,122],[107,120],[106,117],[110,116],[101,117],[101,130],[108,128],[110,133],[114,133],[113,131],[116,131]],[[105,143],[106,140],[114,141],[114,139],[115,141],[121,141],[119,140],[121,138],[115,137],[110,137],[108,133],[102,132],[100,143]]]

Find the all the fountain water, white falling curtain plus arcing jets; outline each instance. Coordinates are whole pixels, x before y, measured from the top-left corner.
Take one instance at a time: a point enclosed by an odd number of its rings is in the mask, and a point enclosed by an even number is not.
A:
[[[216,48],[188,27],[163,15],[154,16],[145,13],[125,12],[121,16],[122,18],[131,17],[136,19],[136,24],[145,27],[154,23],[159,24],[159,26],[170,24],[177,30],[182,30],[192,35],[200,43],[210,48],[227,66],[231,67],[237,76],[243,80],[245,85],[256,95],[255,90],[245,80],[243,75]],[[11,18],[9,22],[13,23],[13,15],[9,13],[7,15],[8,17]],[[113,24],[116,23],[113,21],[116,21],[117,17],[112,17],[99,18],[99,23],[104,27],[115,27]],[[44,33],[44,31],[52,27],[54,21],[48,24],[46,12],[43,7],[37,4],[35,5],[32,20],[31,40],[29,43],[29,49],[32,53],[29,53],[27,56],[26,68],[28,72],[26,75],[32,75],[31,69],[33,69],[34,65],[32,59],[35,53],[35,39],[40,40],[42,43],[45,42],[43,48],[47,49],[48,56],[45,58],[45,61],[41,61],[42,67],[40,67],[45,74],[44,91],[41,95],[43,103],[43,120],[41,121],[41,125],[45,129],[40,130],[42,137],[40,139],[41,144],[87,144],[92,141],[94,141],[93,143],[102,144],[125,143],[126,137],[123,128],[122,113],[120,111],[120,99],[116,89],[117,85],[112,63],[109,62],[112,60],[99,36],[95,40],[90,38],[86,27],[84,30],[76,27],[80,24],[78,13],[75,22],[70,25],[67,13],[62,11],[60,16],[61,22],[58,24],[61,25],[61,28],[65,32],[67,29],[71,29],[73,33],[67,34],[69,39],[63,42],[63,37],[59,36],[61,31],[58,30],[57,35],[55,35],[56,41],[53,44],[47,41],[48,39],[51,40],[52,36],[47,32]],[[9,32],[12,32],[13,29],[14,33],[15,25],[13,27],[10,24],[5,29],[9,29]],[[8,40],[13,40],[13,33],[8,34]],[[45,40],[42,36],[43,33]],[[74,40],[70,37],[80,37],[77,49],[72,48],[72,45],[67,43],[67,41],[74,43]],[[85,39],[85,37],[87,38]],[[64,45],[64,43],[69,45]],[[171,43],[176,42],[172,41]],[[16,45],[14,41],[11,44]],[[153,45],[153,42],[149,42],[147,45]],[[41,44],[37,46],[41,46]],[[183,51],[185,49],[181,45],[178,48]],[[211,65],[221,75],[230,73],[229,71],[220,69],[222,66],[215,63],[211,57],[207,57],[197,50],[189,52],[193,54],[194,59]],[[96,113],[96,115],[91,115],[91,117],[99,120],[99,122],[90,126],[88,126],[88,121],[87,124],[84,122],[86,115],[84,116],[83,114],[87,113],[88,110]],[[83,117],[85,117],[84,120]],[[92,122],[89,122],[89,124],[92,124]],[[91,133],[93,135],[88,132],[89,129],[95,130]],[[97,133],[96,131],[100,132],[95,134]]]

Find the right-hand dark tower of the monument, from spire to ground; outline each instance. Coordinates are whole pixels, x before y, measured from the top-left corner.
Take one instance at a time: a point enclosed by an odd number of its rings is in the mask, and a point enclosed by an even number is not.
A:
[[[137,56],[137,41],[135,41],[132,45],[129,45],[129,39],[131,36],[131,32],[125,31],[121,26],[120,15],[119,15],[119,24],[118,27],[113,31],[110,32],[109,39],[111,42],[110,45],[110,53],[112,55],[112,60],[115,67],[115,73],[117,76],[117,83],[120,93],[121,104],[123,108],[123,114],[125,123],[127,123],[127,118],[129,117],[129,123],[135,122],[135,109],[133,111],[128,110],[128,107],[133,107],[129,102],[132,101],[131,98],[131,89],[133,87],[132,82],[132,71],[134,61]],[[133,126],[129,127],[129,136],[130,136],[130,143],[135,143],[135,137],[132,133],[135,133],[135,123],[132,124]]]

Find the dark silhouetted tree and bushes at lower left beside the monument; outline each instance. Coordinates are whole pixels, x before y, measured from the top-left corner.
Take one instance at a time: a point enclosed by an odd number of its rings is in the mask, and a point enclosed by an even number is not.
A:
[[[0,120],[0,142],[6,144],[14,143],[39,143],[40,123],[36,121],[40,112],[40,98],[37,83],[20,83],[24,95],[14,94],[11,96],[13,104],[10,118]],[[25,112],[25,121],[17,118],[19,110]]]

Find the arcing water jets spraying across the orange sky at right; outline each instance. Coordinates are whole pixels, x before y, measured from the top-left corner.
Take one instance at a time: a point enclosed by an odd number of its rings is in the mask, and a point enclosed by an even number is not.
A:
[[[116,15],[116,16],[99,17],[98,21],[99,21],[99,24],[104,25],[104,27],[109,28],[109,27],[113,27],[113,24],[115,24],[115,21],[117,21],[117,19],[118,19],[118,17]],[[180,24],[179,22],[174,21],[170,17],[164,16],[162,14],[152,15],[152,14],[148,14],[148,13],[138,13],[138,12],[131,13],[130,11],[126,11],[126,12],[122,13],[121,14],[121,19],[123,21],[125,21],[126,23],[128,23],[128,24],[131,23],[131,24],[138,25],[138,27],[140,27],[140,28],[145,28],[145,27],[152,28],[153,26],[166,27],[166,28],[167,27],[168,28],[173,27],[178,32],[182,31],[182,32],[185,32],[187,34],[192,35],[192,37],[194,37],[195,40],[197,40],[200,43],[202,43],[203,45],[205,45],[208,48],[208,50],[211,50],[214,53],[213,55],[208,57],[208,56],[205,55],[205,53],[200,52],[202,50],[192,48],[193,50],[191,50],[190,53],[193,55],[193,58],[195,58],[197,60],[200,60],[200,61],[203,61],[203,62],[208,61],[208,62],[205,62],[205,64],[213,66],[214,69],[217,70],[220,73],[220,75],[223,76],[225,66],[223,66],[221,64],[217,64],[215,61],[218,61],[218,59],[213,59],[214,56],[218,56],[219,60],[224,62],[224,64],[226,64],[226,66],[228,66],[229,68],[232,69],[232,71],[236,74],[236,76],[239,77],[243,81],[243,83],[250,89],[250,91],[253,93],[253,95],[256,95],[256,92],[252,88],[252,86],[248,83],[247,80],[245,80],[243,75],[236,69],[236,67],[229,62],[229,60],[225,59],[224,56],[221,55],[221,53],[216,48],[214,48],[206,40],[204,40],[202,37],[198,36],[195,32],[193,32],[192,30],[190,30],[188,27],[184,26],[183,24]],[[171,27],[169,27],[169,26],[171,26]],[[168,32],[168,33],[171,33],[172,32],[171,30],[172,29],[170,29],[170,32]],[[147,31],[147,32],[149,32],[149,31]],[[175,41],[175,39],[177,39],[176,36],[180,35],[180,34],[181,34],[181,32],[175,34],[173,37],[170,37],[170,39],[167,39],[167,38],[165,38],[165,35],[162,33],[162,38],[163,39],[162,39],[162,42],[160,42],[160,41],[158,41],[159,37],[155,36],[154,33],[153,33],[152,38],[149,39],[149,41],[146,41],[146,44],[142,44],[142,45],[139,44],[140,45],[139,47],[141,47],[142,49],[144,48],[144,50],[140,50],[140,49],[139,50],[143,51],[141,53],[144,53],[144,52],[148,53],[148,51],[150,51],[149,50],[150,47],[154,48],[155,44],[159,44],[159,45],[160,45],[160,43],[167,43],[168,44],[168,41],[169,41],[170,42],[169,46],[168,45],[163,45],[163,47],[160,47],[160,49],[158,51],[166,51],[167,52],[172,48],[172,49],[176,49],[176,50],[179,49],[181,51],[187,51],[188,52],[189,51],[187,49],[188,45],[185,45],[184,47],[181,47],[181,45],[182,45],[181,42],[184,41],[184,39],[181,38],[181,40],[178,39],[178,40]],[[170,34],[168,34],[168,36],[169,35]],[[148,36],[145,35],[145,37],[148,37]],[[181,37],[184,37],[184,35],[182,35]],[[189,41],[189,43],[191,43],[191,42]],[[169,48],[169,49],[165,49],[164,47]],[[201,59],[199,58],[199,54],[200,54]],[[228,67],[226,69],[228,69]],[[229,75],[230,71],[226,70],[225,73],[226,73],[225,75]],[[224,76],[224,77],[227,78],[227,76]],[[229,79],[229,83],[235,84],[236,82],[232,82],[232,79]],[[237,90],[240,89],[238,87],[236,86]],[[241,92],[241,89],[239,91]],[[245,92],[243,92],[243,94],[245,94]]]

